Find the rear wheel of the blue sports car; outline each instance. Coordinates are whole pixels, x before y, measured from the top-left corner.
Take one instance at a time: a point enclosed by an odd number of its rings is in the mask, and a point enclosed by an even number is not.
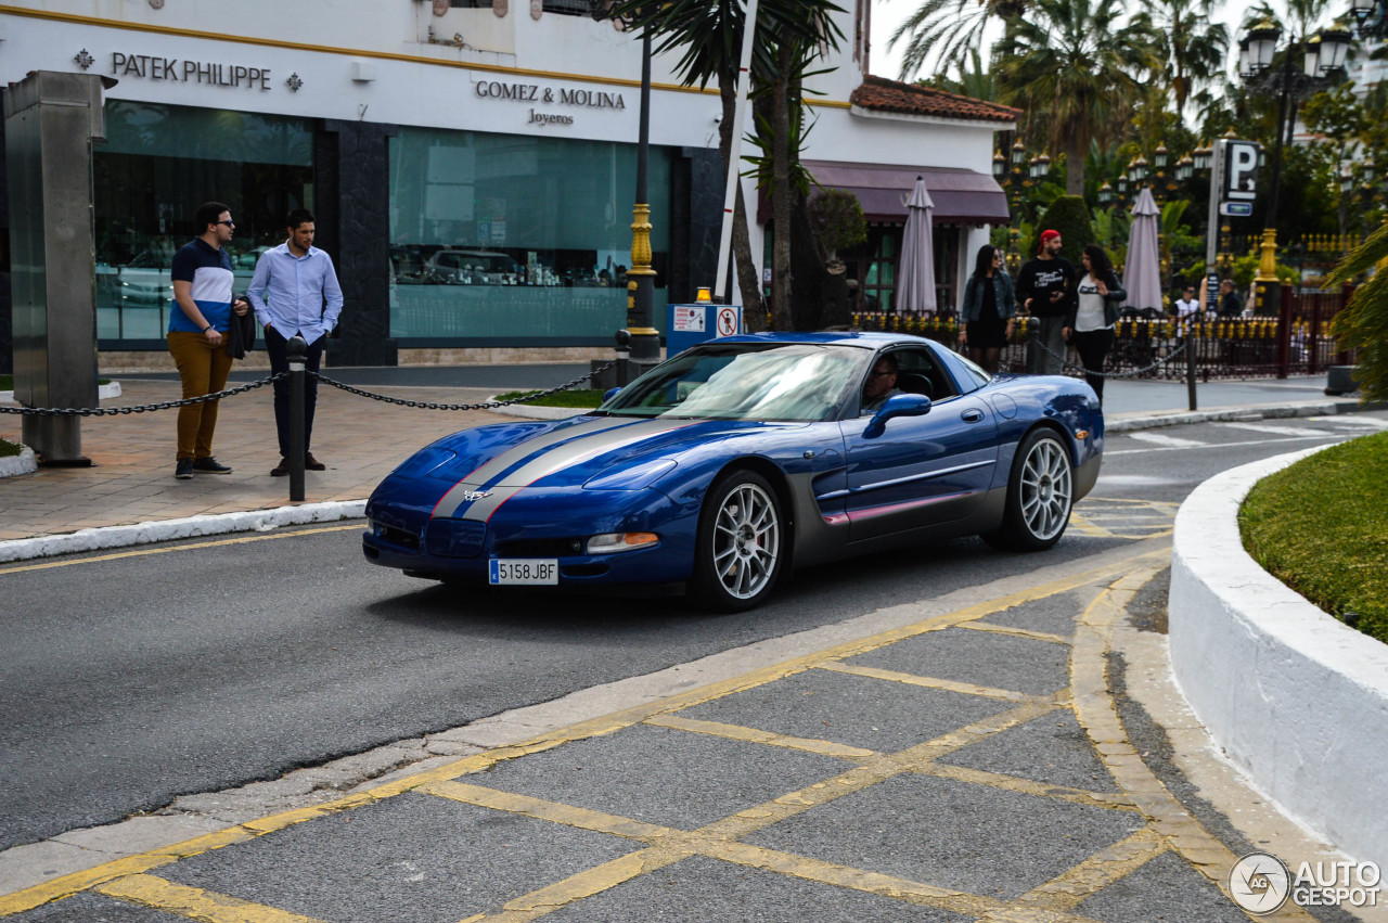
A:
[[[1074,466],[1070,450],[1049,429],[1034,429],[1017,446],[1008,479],[1002,529],[984,541],[1013,551],[1044,551],[1070,523],[1074,504]]]

